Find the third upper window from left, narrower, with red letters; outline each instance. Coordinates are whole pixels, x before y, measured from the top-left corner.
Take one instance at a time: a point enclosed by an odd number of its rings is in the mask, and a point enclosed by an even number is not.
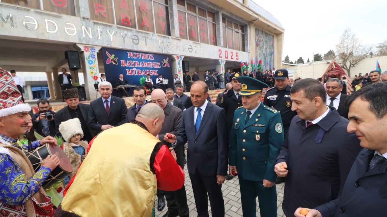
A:
[[[184,0],[177,0],[180,37],[216,45],[215,14]]]

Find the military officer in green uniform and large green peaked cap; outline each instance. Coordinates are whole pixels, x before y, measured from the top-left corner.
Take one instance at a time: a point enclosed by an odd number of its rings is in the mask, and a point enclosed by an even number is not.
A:
[[[274,164],[284,142],[281,115],[262,103],[267,84],[248,76],[242,84],[243,106],[235,110],[229,146],[229,172],[238,173],[243,216],[277,217]]]

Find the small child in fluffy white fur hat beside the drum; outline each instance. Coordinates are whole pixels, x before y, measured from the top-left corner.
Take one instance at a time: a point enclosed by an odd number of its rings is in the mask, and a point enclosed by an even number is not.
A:
[[[63,143],[63,151],[73,167],[72,173],[64,180],[64,184],[67,185],[77,173],[80,163],[85,159],[88,144],[86,141],[80,140],[83,137],[83,131],[78,118],[63,121],[59,125],[59,132],[66,141]]]

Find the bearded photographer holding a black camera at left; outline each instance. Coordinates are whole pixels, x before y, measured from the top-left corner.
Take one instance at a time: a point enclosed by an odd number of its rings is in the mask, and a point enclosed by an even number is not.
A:
[[[46,137],[55,135],[55,112],[50,110],[50,101],[48,99],[39,99],[38,104],[39,112],[32,116],[34,128],[37,133]]]

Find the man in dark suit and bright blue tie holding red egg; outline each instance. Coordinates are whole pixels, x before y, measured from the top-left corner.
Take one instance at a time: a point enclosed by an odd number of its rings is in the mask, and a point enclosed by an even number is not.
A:
[[[213,217],[224,216],[222,183],[226,180],[228,165],[228,138],[226,114],[222,108],[207,101],[208,87],[202,81],[191,86],[194,106],[183,112],[178,137],[164,140],[183,146],[188,141],[188,173],[198,217],[209,216],[208,197]]]

